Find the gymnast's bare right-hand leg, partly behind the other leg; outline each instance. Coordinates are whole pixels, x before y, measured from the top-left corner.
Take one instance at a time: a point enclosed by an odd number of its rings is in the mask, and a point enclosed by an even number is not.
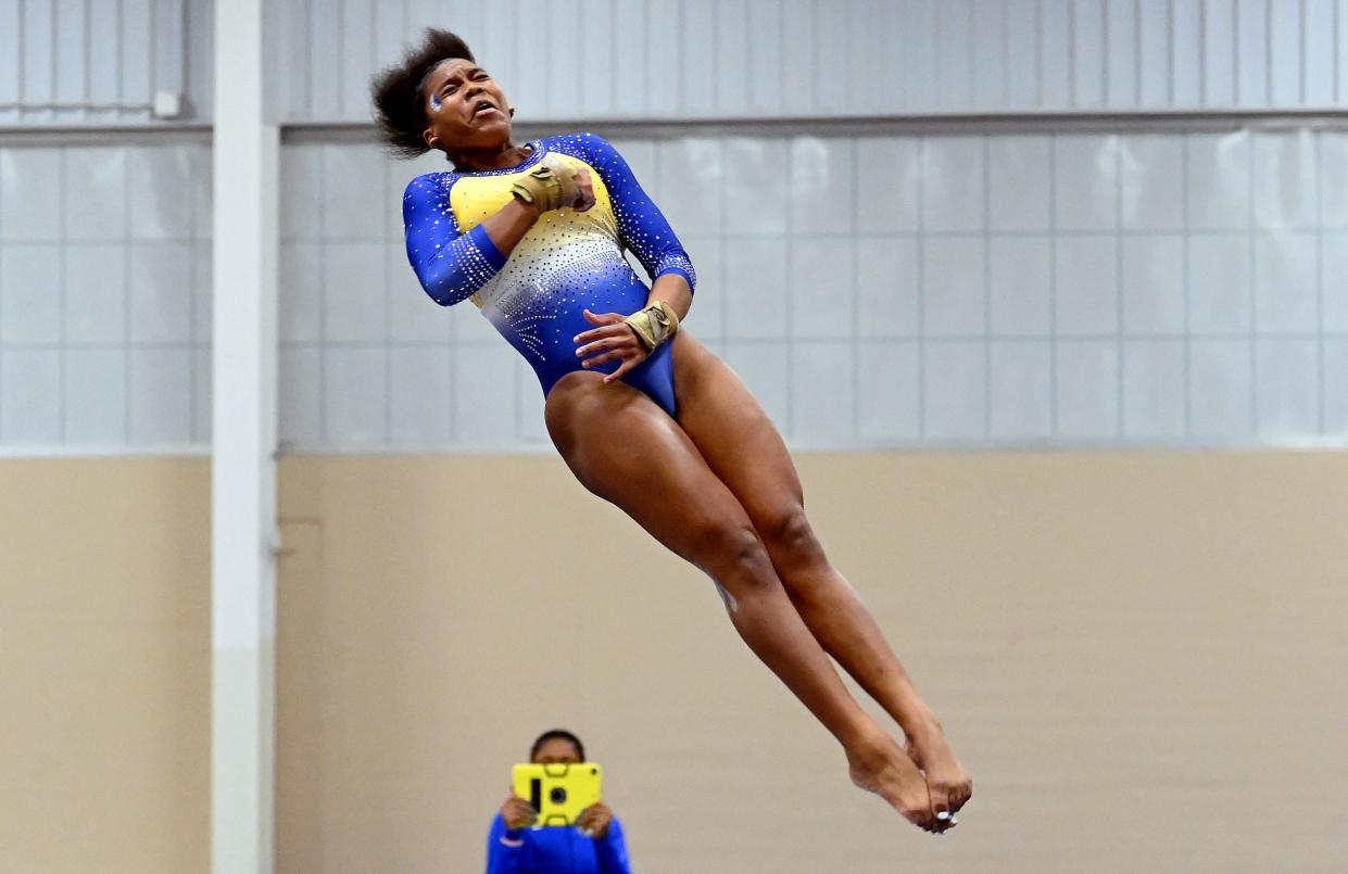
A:
[[[926,773],[934,813],[958,811],[973,792],[884,634],[829,563],[805,516],[786,444],[740,378],[701,343],[674,338],[678,420],[716,478],[735,496],[778,578],[816,640],[902,726]]]

